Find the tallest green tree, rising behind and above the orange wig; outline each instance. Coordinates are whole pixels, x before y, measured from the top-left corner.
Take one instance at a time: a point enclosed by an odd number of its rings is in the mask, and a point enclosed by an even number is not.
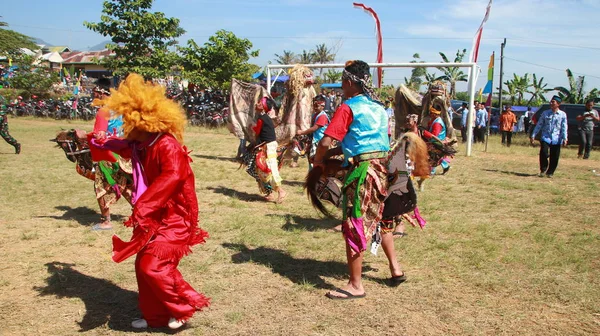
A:
[[[138,73],[146,78],[164,77],[171,72],[177,57],[170,50],[185,33],[179,19],[161,12],[150,12],[154,0],[106,0],[100,22],[83,23],[112,43],[106,47],[114,57],[102,64],[117,75]]]

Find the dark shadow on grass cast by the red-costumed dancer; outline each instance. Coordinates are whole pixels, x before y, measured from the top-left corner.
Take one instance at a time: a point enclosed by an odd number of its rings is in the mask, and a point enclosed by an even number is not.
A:
[[[138,294],[114,283],[94,278],[73,269],[74,264],[58,261],[45,264],[50,276],[45,287],[34,287],[41,296],[54,295],[59,299],[78,298],[85,305],[85,315],[79,323],[80,332],[107,325],[108,328],[126,332],[157,332],[176,334],[168,328],[134,329],[131,322],[141,316],[137,310]]]

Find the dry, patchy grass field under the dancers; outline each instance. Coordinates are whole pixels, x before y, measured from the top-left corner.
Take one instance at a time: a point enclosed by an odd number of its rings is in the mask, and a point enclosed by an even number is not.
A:
[[[23,144],[0,143],[0,334],[125,335],[139,316],[133,258],[111,261],[111,232],[91,181],[48,139],[90,123],[10,119]],[[525,142],[518,138],[516,142]],[[396,240],[408,281],[389,288],[383,253],[364,264],[367,297],[324,294],[346,282],[344,244],[302,193],[306,164],[284,168],[282,205],[261,201],[231,158],[237,139],[190,129],[201,226],[211,237],[180,270],[212,298],[180,335],[598,335],[600,153],[563,149],[539,178],[537,148],[464,148],[447,176],[427,181],[425,230]],[[113,208],[115,233],[125,201]],[[151,332],[168,332],[156,330]]]

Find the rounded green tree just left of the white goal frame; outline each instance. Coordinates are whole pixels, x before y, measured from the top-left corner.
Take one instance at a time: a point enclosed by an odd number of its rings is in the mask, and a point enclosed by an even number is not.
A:
[[[252,74],[260,70],[259,66],[248,63],[259,53],[251,49],[250,40],[223,29],[211,36],[203,47],[190,40],[187,47],[179,48],[184,76],[196,78],[198,84],[221,89],[228,88],[234,77],[250,81]]]

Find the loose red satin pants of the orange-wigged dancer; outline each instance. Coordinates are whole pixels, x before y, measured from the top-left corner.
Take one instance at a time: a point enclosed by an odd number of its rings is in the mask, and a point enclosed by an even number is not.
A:
[[[190,286],[177,270],[180,259],[163,260],[142,249],[135,259],[139,308],[150,327],[164,327],[171,317],[188,320],[209,299]]]

